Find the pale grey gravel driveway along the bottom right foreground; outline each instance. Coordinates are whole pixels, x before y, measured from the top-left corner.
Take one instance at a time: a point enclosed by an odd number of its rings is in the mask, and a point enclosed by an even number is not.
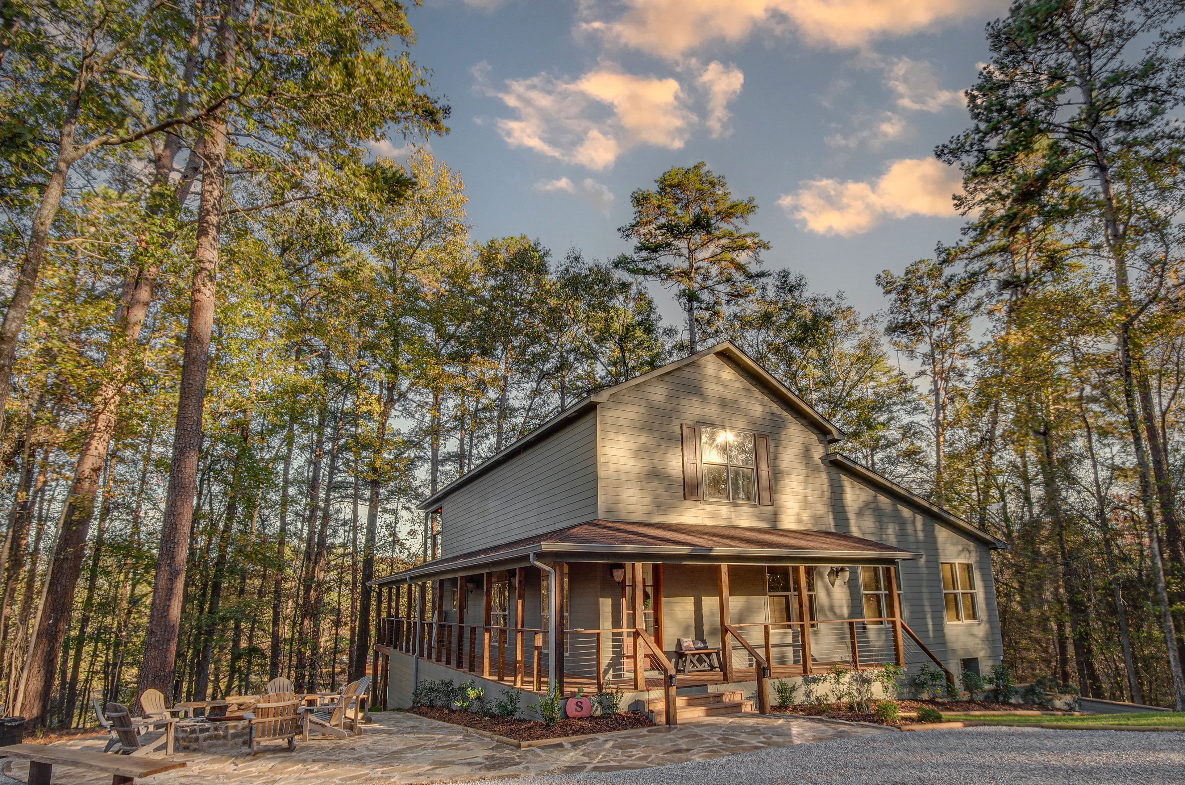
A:
[[[1185,733],[962,728],[886,733],[607,773],[497,785],[1185,783]]]

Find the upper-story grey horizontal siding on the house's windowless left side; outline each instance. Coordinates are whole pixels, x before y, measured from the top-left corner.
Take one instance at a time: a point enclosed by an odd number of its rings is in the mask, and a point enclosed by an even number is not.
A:
[[[441,556],[584,523],[596,512],[596,413],[449,494]]]

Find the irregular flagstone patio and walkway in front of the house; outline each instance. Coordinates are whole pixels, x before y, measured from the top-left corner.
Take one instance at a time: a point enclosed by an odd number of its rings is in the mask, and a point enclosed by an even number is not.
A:
[[[457,726],[425,720],[402,711],[376,713],[363,735],[345,741],[326,738],[308,743],[297,740],[296,751],[283,742],[261,747],[255,758],[225,751],[179,753],[188,767],[149,777],[153,785],[250,781],[252,785],[310,785],[320,783],[460,783],[491,777],[572,774],[622,768],[665,766],[719,758],[739,752],[832,739],[896,733],[871,726],[819,722],[801,717],[707,719],[678,728],[654,727],[634,733],[569,741],[550,747],[514,749],[468,733]],[[105,736],[62,742],[70,747],[102,752]],[[27,781],[25,761],[6,761],[0,785]],[[15,779],[13,779],[15,778]],[[55,766],[55,785],[98,781],[82,768]]]

